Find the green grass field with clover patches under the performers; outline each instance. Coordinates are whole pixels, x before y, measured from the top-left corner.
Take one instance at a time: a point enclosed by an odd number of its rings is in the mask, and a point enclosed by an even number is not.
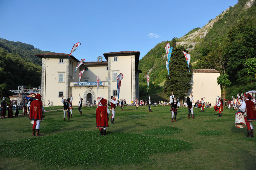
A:
[[[188,119],[179,108],[171,123],[170,107],[151,108],[118,107],[106,136],[96,128],[96,107],[83,107],[83,115],[74,108],[70,122],[63,111],[45,113],[42,137],[31,136],[28,117],[1,119],[0,169],[256,169],[256,137],[234,126],[233,109],[218,117],[214,108],[195,108]]]

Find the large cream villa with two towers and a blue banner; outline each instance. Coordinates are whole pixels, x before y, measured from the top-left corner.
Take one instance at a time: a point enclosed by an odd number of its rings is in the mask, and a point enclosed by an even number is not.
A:
[[[79,94],[83,98],[83,105],[89,100],[90,104],[97,97],[110,100],[111,96],[117,98],[116,76],[120,73],[124,78],[121,83],[120,99],[126,99],[126,103],[139,98],[139,73],[138,62],[140,52],[121,51],[104,53],[107,61],[99,56],[95,62],[83,62],[83,65],[75,69],[79,62],[69,54],[48,53],[36,54],[42,59],[41,95],[44,105],[61,106],[62,95],[64,98],[73,96],[73,105],[78,105]],[[65,63],[64,63],[65,62]],[[78,75],[85,70],[78,85]],[[97,77],[100,77],[100,85],[97,90]],[[73,78],[74,77],[74,78]],[[98,103],[98,102],[97,102]]]

